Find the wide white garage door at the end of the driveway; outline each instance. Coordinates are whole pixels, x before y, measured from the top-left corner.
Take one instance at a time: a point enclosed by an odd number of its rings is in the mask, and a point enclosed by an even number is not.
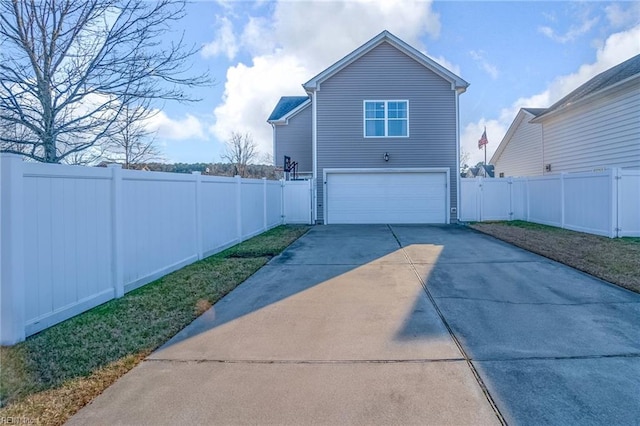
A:
[[[327,220],[446,223],[446,172],[327,172]]]

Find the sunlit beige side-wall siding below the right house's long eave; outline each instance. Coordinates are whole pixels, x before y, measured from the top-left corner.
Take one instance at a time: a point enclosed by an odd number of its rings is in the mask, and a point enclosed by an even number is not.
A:
[[[640,88],[620,87],[542,122],[551,173],[640,169]]]

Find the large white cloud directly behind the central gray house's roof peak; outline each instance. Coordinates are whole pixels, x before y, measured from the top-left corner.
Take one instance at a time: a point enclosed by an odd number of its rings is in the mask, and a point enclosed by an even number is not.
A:
[[[272,151],[266,119],[280,96],[304,96],[302,83],[384,29],[422,51],[420,38],[440,33],[429,1],[280,1],[272,10],[236,30],[240,48],[253,59],[227,70],[216,123],[209,129],[220,140],[232,131],[250,132],[263,153]],[[434,60],[459,73],[445,58]]]

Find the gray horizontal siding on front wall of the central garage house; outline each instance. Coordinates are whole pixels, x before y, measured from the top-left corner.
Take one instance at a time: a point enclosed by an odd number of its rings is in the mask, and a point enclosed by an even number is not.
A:
[[[364,100],[408,100],[409,137],[365,138]],[[457,207],[458,123],[450,82],[382,43],[321,82],[316,102],[318,221],[324,220],[325,168],[448,167],[450,207]]]

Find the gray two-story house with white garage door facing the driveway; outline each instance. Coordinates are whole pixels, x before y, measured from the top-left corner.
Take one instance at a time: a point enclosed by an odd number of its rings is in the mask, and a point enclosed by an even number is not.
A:
[[[310,160],[317,223],[455,222],[468,85],[383,31],[280,100],[276,164]]]

